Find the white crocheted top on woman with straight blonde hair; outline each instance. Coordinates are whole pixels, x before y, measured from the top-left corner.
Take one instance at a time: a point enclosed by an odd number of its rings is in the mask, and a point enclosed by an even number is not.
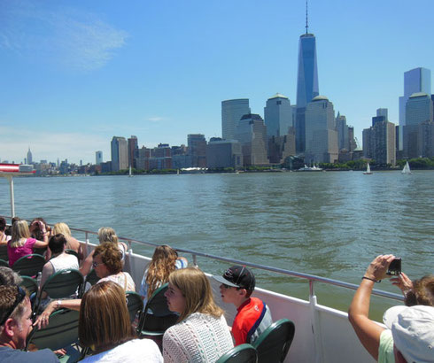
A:
[[[223,315],[192,313],[166,330],[163,336],[165,363],[215,362],[233,348],[228,324]]]

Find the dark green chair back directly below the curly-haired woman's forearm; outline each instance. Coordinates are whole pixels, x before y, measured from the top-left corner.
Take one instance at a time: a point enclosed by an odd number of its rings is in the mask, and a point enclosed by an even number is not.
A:
[[[27,346],[32,343],[40,350],[49,348],[51,351],[57,351],[76,343],[78,341],[78,319],[79,312],[74,310],[60,309],[52,313],[50,324],[46,328],[33,329],[27,336]]]

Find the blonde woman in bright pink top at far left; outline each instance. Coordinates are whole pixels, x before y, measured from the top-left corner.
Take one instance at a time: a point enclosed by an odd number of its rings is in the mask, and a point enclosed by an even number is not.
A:
[[[43,233],[46,231],[43,228]],[[8,242],[8,257],[9,266],[21,257],[33,253],[34,248],[45,248],[48,245],[47,241],[38,241],[30,237],[26,220],[18,220],[12,225],[12,239]]]

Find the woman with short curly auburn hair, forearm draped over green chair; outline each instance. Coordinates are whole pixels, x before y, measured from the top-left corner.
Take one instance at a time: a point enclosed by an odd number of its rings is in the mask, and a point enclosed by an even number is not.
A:
[[[112,243],[103,243],[95,249],[95,259],[93,262],[95,271],[100,282],[112,281],[120,285],[124,291],[136,291],[136,285],[130,274],[122,272],[122,262],[120,261],[120,251]],[[50,314],[60,307],[66,309],[80,310],[81,299],[54,300],[45,308],[43,313],[35,321],[39,328],[48,324]]]

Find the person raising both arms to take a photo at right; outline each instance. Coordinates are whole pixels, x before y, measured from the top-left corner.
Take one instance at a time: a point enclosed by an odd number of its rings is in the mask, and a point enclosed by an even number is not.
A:
[[[376,321],[371,321],[368,318],[370,296],[375,282],[384,279],[393,259],[395,259],[393,255],[380,255],[370,263],[348,310],[348,319],[353,325],[360,343],[378,362],[395,361],[393,338],[390,329],[385,329],[379,326]],[[407,291],[405,293],[409,295],[409,298],[408,300],[406,298],[406,304],[413,305],[415,303],[417,305],[432,306],[434,301],[433,276],[425,276],[421,280],[415,281],[413,288],[409,288],[409,279],[405,274],[400,274],[398,278],[392,279],[392,282],[398,285],[401,290]],[[384,314],[384,321],[386,315],[387,312]]]

